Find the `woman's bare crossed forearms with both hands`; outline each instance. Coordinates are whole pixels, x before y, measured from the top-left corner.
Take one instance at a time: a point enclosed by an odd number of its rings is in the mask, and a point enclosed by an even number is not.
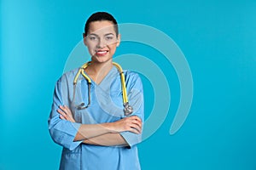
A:
[[[75,122],[72,112],[67,105],[60,105],[60,118],[70,122]],[[125,139],[119,134],[124,131],[131,133],[142,133],[142,121],[138,116],[129,116],[117,122],[107,122],[102,124],[82,124],[76,134],[74,141],[83,140],[84,144],[96,145],[128,145]]]

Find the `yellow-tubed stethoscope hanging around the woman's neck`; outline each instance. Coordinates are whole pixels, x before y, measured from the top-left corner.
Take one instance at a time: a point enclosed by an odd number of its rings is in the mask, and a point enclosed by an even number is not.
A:
[[[80,105],[77,105],[78,110],[84,110],[84,109],[86,109],[90,106],[91,80],[90,80],[90,77],[88,77],[84,72],[86,67],[90,64],[91,64],[91,62],[89,61],[89,62],[85,63],[82,67],[80,67],[78,73],[76,74],[76,76],[74,77],[74,80],[73,80],[73,99],[74,99],[74,96],[75,96],[75,89],[76,89],[76,85],[77,85],[80,74],[83,75],[83,77],[87,80],[87,83],[88,83],[88,104],[85,105],[84,103],[81,103]],[[124,71],[123,71],[122,67],[119,64],[113,62],[113,65],[118,69],[120,77],[121,77],[124,112],[125,112],[125,116],[129,116],[133,112],[133,108],[132,108],[131,105],[129,105],[129,102],[128,102],[128,97],[127,97],[127,92],[126,92],[126,87],[125,87]]]

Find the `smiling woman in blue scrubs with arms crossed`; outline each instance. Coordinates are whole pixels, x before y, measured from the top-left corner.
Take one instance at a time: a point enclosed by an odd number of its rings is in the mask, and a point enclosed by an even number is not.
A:
[[[60,169],[140,169],[143,86],[137,73],[113,65],[120,43],[117,22],[105,12],[92,14],[83,36],[91,61],[56,82],[49,116],[49,133],[63,147]],[[133,112],[124,112],[124,105]]]

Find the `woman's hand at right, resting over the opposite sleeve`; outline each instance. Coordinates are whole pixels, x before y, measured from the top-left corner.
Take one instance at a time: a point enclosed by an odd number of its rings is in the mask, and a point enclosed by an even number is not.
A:
[[[117,122],[109,123],[112,133],[130,131],[131,133],[142,133],[143,122],[138,116],[128,116]]]

